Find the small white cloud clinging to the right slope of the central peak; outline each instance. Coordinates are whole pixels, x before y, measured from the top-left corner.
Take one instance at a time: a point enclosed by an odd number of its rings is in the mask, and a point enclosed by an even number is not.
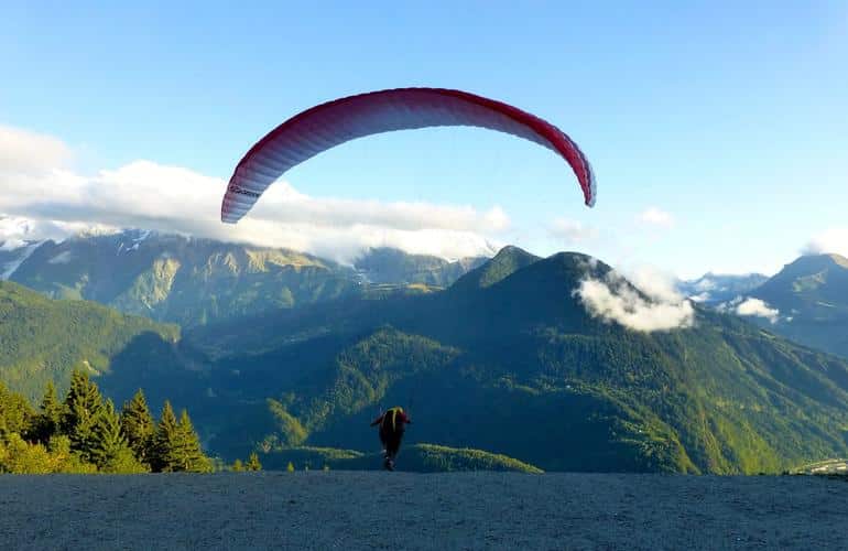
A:
[[[648,271],[642,277],[642,294],[615,272],[602,280],[583,280],[574,294],[592,316],[633,331],[648,333],[694,325],[695,309],[689,301],[676,293],[673,285],[670,288],[664,278],[648,278]]]

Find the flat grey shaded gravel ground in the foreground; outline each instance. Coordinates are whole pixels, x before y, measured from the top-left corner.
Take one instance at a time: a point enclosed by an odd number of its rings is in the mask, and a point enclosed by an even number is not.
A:
[[[0,476],[0,549],[848,549],[808,476]]]

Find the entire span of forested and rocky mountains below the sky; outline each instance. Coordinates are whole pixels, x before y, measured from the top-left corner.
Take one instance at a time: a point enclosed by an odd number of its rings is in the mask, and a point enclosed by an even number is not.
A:
[[[188,407],[227,458],[359,465],[368,422],[394,404],[416,420],[416,456],[439,465],[755,473],[848,451],[847,360],[778,336],[783,322],[705,306],[677,328],[628,328],[588,309],[581,284],[655,299],[585,255],[374,249],[343,266],[145,231],[0,255],[41,293],[0,287],[4,382],[34,397],[77,367],[118,401],[143,387]],[[786,324],[838,323],[844,259],[800,262],[744,296]]]

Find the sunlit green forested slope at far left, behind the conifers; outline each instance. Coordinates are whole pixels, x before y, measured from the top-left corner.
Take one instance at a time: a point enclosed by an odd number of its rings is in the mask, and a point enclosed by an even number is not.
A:
[[[180,328],[86,301],[56,301],[0,282],[0,381],[30,400],[47,381],[67,389],[76,368],[118,403],[139,387],[152,403],[185,403],[197,387],[199,356],[181,346]]]

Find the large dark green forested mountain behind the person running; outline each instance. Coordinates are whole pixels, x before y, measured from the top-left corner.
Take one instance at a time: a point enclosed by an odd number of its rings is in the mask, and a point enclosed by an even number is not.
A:
[[[482,267],[442,293],[191,333],[225,356],[210,375],[220,399],[253,404],[250,430],[219,419],[210,445],[369,450],[370,419],[403,404],[411,443],[546,471],[779,472],[845,455],[848,363],[702,310],[693,328],[631,332],[573,296],[609,273],[602,262],[499,257],[488,285],[468,283]]]

